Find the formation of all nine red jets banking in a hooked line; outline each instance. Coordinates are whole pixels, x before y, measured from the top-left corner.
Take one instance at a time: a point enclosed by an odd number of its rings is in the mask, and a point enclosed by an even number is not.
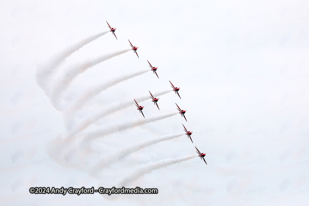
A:
[[[106,21],[106,23],[108,24],[108,22]],[[115,35],[115,30],[116,30],[116,28],[112,28],[109,24],[108,24],[108,27],[110,28],[110,32],[112,32],[112,34],[116,37],[116,35]],[[116,39],[117,39],[117,37],[116,37]],[[118,39],[117,39],[118,40]],[[136,54],[136,56],[138,57],[138,54],[137,54],[137,49],[138,49],[138,47],[135,47],[135,46],[133,46],[133,44],[130,42],[130,40],[129,40],[129,43],[130,43],[130,46],[131,46],[131,48],[132,48],[132,50],[134,51],[134,53]],[[139,57],[138,57],[139,58]],[[148,61],[148,60],[147,60]],[[153,71],[153,73],[154,74],[156,74],[157,75],[157,77],[159,78],[159,76],[158,76],[158,74],[157,74],[157,69],[158,69],[158,67],[154,67],[154,66],[152,66],[151,64],[150,64],[150,62],[148,61],[148,63],[149,63],[149,66],[150,66],[150,68],[151,68],[151,71]],[[174,86],[173,84],[172,84],[172,82],[171,81],[169,81],[170,83],[171,83],[171,87],[173,88],[173,91],[175,91],[175,94],[176,95],[178,95],[179,96],[179,98],[181,99],[181,97],[180,97],[180,95],[179,95],[179,90],[180,90],[180,88],[179,87],[176,87],[176,86]],[[152,94],[151,94],[151,92],[149,91],[149,93],[150,93],[150,98],[151,98],[151,101],[158,107],[158,109],[159,109],[159,106],[158,106],[158,100],[159,100],[159,98],[155,98]],[[140,112],[140,113],[142,113],[142,115],[143,115],[143,117],[145,118],[145,116],[144,116],[144,114],[143,114],[143,108],[144,108],[144,106],[139,106],[138,105],[138,103],[136,102],[136,100],[134,99],[134,101],[135,101],[135,105],[137,106],[137,109],[138,109],[138,111]],[[184,114],[186,113],[186,110],[182,110],[182,109],[180,109],[180,107],[177,105],[177,103],[176,103],[176,106],[178,107],[177,108],[177,110],[179,111],[179,114],[181,114],[181,116],[183,116],[184,117],[184,119],[187,121],[187,119],[186,119],[186,117],[184,116]],[[159,109],[160,110],[160,109]],[[188,121],[187,121],[188,122]],[[184,124],[183,124],[183,126],[184,126]],[[192,138],[191,138],[191,135],[192,135],[192,131],[188,131],[186,128],[185,128],[185,126],[184,126],[184,131],[186,132],[186,135],[188,136],[188,138],[190,138],[190,140],[191,140],[191,142],[193,143],[193,141],[192,141]],[[206,156],[206,154],[205,153],[201,153],[198,149],[197,149],[197,147],[195,147],[196,148],[196,152],[198,153],[198,156],[201,158],[201,159],[203,159],[204,160],[204,162],[206,163],[206,161],[205,161],[205,156]],[[206,165],[207,165],[207,163],[206,163]]]

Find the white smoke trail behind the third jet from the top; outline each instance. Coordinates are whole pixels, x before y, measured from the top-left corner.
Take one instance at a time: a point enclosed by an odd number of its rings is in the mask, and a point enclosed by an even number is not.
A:
[[[143,70],[143,71],[139,71],[139,72],[135,72],[135,73],[132,73],[132,74],[127,74],[123,77],[120,77],[120,78],[116,78],[116,79],[113,79],[113,80],[110,80],[108,82],[105,82],[105,83],[102,83],[102,84],[99,84],[97,86],[94,86],[91,91],[90,91],[90,94],[89,96],[87,97],[87,99],[78,99],[75,103],[74,103],[74,106],[73,107],[78,107],[78,108],[81,108],[81,106],[91,100],[93,97],[95,97],[96,95],[99,95],[101,92],[103,92],[104,90],[107,90],[109,87],[112,87],[112,86],[115,86],[116,84],[120,83],[120,82],[123,82],[123,81],[126,81],[130,78],[133,78],[133,77],[137,77],[139,75],[142,75],[142,74],[145,74],[146,72],[150,71],[149,69],[147,70]]]

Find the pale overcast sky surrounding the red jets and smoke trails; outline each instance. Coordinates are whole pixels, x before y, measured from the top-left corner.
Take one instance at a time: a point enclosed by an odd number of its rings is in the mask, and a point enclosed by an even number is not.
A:
[[[308,10],[307,1],[2,1],[1,205],[306,205]],[[121,82],[92,99],[101,104],[79,111],[75,120],[80,123],[111,104],[148,95],[148,90],[170,89],[170,80],[181,88],[182,99],[173,92],[160,96],[160,111],[150,99],[142,102],[145,117],[176,112],[177,103],[187,110],[188,122],[176,115],[116,132],[79,145],[79,153],[90,145],[86,159],[82,153],[62,164],[79,141],[55,144],[58,135],[66,136],[67,122],[37,85],[36,68],[67,46],[108,30],[105,21],[117,28],[118,40],[109,32],[81,48],[59,67],[55,79],[76,62],[130,48],[128,39],[139,47],[140,58],[129,51],[96,65],[62,97],[73,92],[80,98],[91,86],[150,69],[146,60],[159,67],[159,79],[149,71]],[[132,105],[84,132],[141,119]],[[139,150],[102,172],[102,186],[117,187],[147,161],[194,155],[194,146],[206,153],[208,165],[196,157],[154,170],[128,186],[155,187],[158,195],[107,200],[99,194],[29,194],[35,186],[96,188],[100,180],[90,176],[90,168],[63,168],[182,133],[181,124],[193,131],[194,144],[183,135]],[[21,155],[14,162],[17,150]],[[41,165],[33,163],[40,160]]]

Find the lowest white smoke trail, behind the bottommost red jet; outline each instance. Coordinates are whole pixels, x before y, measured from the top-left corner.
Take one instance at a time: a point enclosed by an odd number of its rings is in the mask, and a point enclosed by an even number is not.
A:
[[[117,186],[118,188],[126,187],[127,185],[131,184],[133,181],[139,179],[142,175],[151,173],[153,170],[157,170],[161,167],[166,167],[166,166],[170,166],[175,163],[190,160],[194,157],[197,157],[197,155],[191,155],[191,156],[180,157],[180,158],[169,158],[169,159],[161,160],[159,162],[152,162],[144,166],[140,166],[138,169],[131,172],[127,177],[122,179],[122,181]],[[99,183],[99,185],[102,185],[102,184],[104,183],[103,182]]]

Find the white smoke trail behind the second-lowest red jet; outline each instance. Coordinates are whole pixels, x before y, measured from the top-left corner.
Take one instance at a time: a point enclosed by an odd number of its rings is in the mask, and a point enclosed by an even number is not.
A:
[[[94,166],[90,173],[93,177],[97,177],[98,179],[101,179],[101,177],[99,177],[99,175],[101,174],[102,170],[108,166],[111,166],[114,163],[117,162],[123,162],[125,160],[125,158],[127,156],[129,156],[130,154],[137,152],[140,149],[143,149],[145,147],[149,147],[150,145],[154,145],[157,144],[159,142],[165,141],[165,140],[170,140],[176,137],[180,137],[184,134],[173,134],[173,135],[165,135],[163,137],[157,137],[157,138],[152,138],[150,140],[146,140],[146,141],[142,141],[142,142],[138,142],[136,144],[133,145],[129,145],[127,147],[125,147],[124,149],[118,150],[112,154],[110,154],[108,157],[104,158],[104,164],[98,164],[96,166]]]

